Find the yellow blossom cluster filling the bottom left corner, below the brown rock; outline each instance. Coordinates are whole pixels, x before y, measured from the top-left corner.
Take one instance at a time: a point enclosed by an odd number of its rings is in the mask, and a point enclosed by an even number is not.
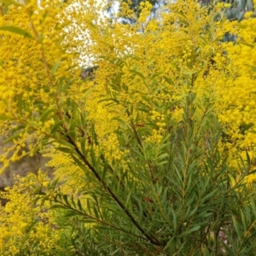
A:
[[[34,242],[38,242],[38,245],[47,252],[55,247],[56,241],[61,236],[57,230],[55,234],[52,233],[52,225],[55,224],[54,215],[52,212],[42,211],[40,207],[32,207],[32,195],[25,193],[27,189],[44,183],[45,175],[39,172],[38,179],[32,174],[26,178],[17,177],[16,179],[15,186],[8,190],[9,193],[1,193],[1,197],[10,200],[6,207],[0,207],[1,255],[16,255],[20,253],[20,249],[31,247]],[[38,218],[42,220],[37,222]],[[29,235],[27,230],[31,230]],[[25,240],[25,238],[28,239]],[[8,251],[3,250],[4,248],[8,248]]]

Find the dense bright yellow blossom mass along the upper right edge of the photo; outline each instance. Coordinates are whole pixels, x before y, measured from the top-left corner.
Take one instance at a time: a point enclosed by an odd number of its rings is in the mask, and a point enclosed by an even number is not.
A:
[[[252,14],[247,13],[246,20],[241,24],[230,22],[227,29],[234,32],[237,43],[224,44],[224,49],[228,52],[230,64],[227,66],[230,78],[225,79],[225,86],[219,90],[219,96],[224,102],[220,106],[220,119],[226,125],[227,131],[234,134],[234,138],[239,139],[239,148],[250,148],[256,142],[252,133],[255,117],[255,72],[256,36],[255,18],[250,18]],[[242,125],[242,126],[241,126]],[[239,129],[248,128],[241,134]],[[249,127],[250,126],[250,127]],[[236,142],[237,143],[237,142]]]

